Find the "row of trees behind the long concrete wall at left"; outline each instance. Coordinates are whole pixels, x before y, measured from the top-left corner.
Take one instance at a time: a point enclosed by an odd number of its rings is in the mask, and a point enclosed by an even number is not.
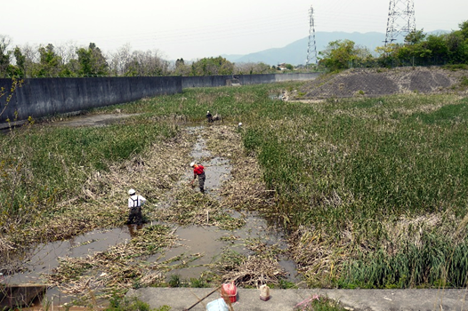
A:
[[[157,51],[132,51],[129,44],[104,54],[94,43],[54,46],[11,46],[9,36],[0,35],[0,77],[48,76],[212,76],[277,72],[264,63],[235,64],[220,57],[174,63]]]

